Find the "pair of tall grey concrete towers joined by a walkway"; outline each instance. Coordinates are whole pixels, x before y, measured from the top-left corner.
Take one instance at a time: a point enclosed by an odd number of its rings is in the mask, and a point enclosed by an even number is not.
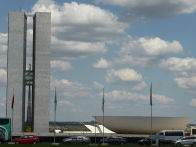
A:
[[[27,17],[24,12],[12,11],[8,18],[6,116],[13,118],[15,134],[25,131],[27,118],[31,132],[49,132],[51,14],[36,12],[31,16],[33,54],[29,70],[26,68]],[[32,93],[27,106],[26,89],[30,86]]]

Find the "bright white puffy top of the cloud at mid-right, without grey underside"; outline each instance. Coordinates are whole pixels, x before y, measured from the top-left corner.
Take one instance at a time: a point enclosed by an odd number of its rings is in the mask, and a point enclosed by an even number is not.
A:
[[[137,56],[164,56],[167,54],[182,53],[183,47],[174,40],[172,42],[162,40],[159,37],[155,38],[139,38],[131,39],[123,45],[119,54],[129,54]]]

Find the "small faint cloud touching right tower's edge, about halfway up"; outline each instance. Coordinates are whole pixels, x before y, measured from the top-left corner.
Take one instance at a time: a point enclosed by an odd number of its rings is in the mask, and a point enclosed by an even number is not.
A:
[[[50,62],[51,68],[55,72],[63,72],[72,69],[72,66],[69,62],[60,61],[60,60],[53,60]]]

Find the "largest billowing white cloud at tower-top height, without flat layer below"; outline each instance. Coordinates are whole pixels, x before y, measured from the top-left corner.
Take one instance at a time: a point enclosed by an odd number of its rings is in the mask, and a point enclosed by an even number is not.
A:
[[[89,4],[71,2],[57,5],[52,0],[50,3],[39,0],[32,11],[51,12],[55,33],[59,33],[57,36],[60,38],[63,35],[65,40],[100,41],[105,37],[108,38],[107,36],[124,33],[124,29],[128,27],[127,24],[119,22],[109,11]]]

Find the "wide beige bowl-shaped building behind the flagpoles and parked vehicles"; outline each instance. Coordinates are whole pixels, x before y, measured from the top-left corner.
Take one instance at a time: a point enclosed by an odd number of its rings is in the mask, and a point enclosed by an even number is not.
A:
[[[96,122],[103,123],[102,116],[94,116]],[[152,133],[160,130],[184,130],[192,117],[152,117]],[[147,116],[105,116],[104,126],[119,134],[150,134],[151,117]]]

